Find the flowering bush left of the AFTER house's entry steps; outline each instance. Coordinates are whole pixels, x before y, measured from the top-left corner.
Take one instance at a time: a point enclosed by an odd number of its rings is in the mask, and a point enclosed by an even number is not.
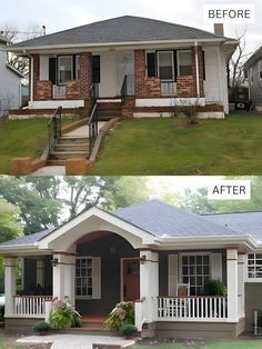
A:
[[[71,306],[58,301],[50,315],[50,325],[53,329],[67,329],[70,327],[80,327],[80,315]]]

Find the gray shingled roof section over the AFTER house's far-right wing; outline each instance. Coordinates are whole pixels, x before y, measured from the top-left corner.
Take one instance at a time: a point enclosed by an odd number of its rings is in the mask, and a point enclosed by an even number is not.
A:
[[[215,213],[202,217],[212,223],[235,230],[242,235],[250,235],[255,240],[262,241],[262,212]]]

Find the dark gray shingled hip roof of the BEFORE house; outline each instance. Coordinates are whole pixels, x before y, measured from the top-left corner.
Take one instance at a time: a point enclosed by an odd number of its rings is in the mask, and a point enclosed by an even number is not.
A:
[[[19,42],[13,48],[195,39],[223,40],[224,38],[191,27],[123,16]]]

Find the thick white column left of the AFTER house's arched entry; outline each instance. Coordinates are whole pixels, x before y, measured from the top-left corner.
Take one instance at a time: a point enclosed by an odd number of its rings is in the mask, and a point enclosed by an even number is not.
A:
[[[64,297],[70,299],[74,306],[74,269],[75,257],[71,255],[53,255],[53,297],[64,301]]]

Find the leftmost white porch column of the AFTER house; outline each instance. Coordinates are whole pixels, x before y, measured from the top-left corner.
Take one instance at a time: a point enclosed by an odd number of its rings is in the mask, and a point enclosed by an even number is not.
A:
[[[4,258],[4,295],[6,317],[13,313],[13,296],[16,295],[16,258]]]

